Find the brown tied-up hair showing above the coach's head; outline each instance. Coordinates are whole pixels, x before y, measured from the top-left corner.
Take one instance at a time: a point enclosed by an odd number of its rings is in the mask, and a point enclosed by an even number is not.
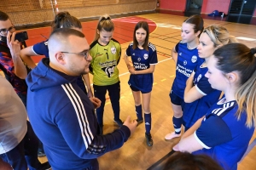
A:
[[[55,15],[55,20],[51,24],[52,31],[58,28],[82,28],[81,22],[67,11]]]

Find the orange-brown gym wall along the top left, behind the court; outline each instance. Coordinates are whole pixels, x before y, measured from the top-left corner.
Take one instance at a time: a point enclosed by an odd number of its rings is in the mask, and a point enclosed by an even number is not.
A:
[[[81,19],[153,11],[156,0],[57,0],[57,4],[59,11],[68,11]],[[55,0],[1,0],[0,10],[9,14],[15,26],[49,22],[56,14]]]

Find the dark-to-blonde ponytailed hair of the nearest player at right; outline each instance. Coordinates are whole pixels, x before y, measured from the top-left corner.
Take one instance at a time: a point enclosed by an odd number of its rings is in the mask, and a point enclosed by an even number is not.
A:
[[[247,127],[256,125],[256,50],[247,48],[242,43],[229,43],[213,53],[217,59],[216,67],[224,74],[237,71],[239,84],[236,89],[236,102],[238,120],[242,111],[247,112]]]

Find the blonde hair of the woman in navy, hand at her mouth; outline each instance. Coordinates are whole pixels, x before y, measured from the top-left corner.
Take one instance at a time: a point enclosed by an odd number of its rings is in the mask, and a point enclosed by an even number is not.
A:
[[[203,32],[207,33],[207,35],[211,38],[215,48],[218,45],[238,42],[236,37],[230,36],[230,32],[224,26],[207,26]]]

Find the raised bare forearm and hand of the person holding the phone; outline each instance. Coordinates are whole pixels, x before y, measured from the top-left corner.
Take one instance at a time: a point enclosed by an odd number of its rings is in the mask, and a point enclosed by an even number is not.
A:
[[[18,40],[15,40],[15,34],[16,32],[14,32],[13,36],[10,37],[12,33],[8,31],[7,45],[9,47],[9,51],[12,55],[12,59],[15,65],[15,75],[17,77],[20,77],[20,79],[25,79],[27,76],[26,66],[20,58],[20,42],[18,42]]]

